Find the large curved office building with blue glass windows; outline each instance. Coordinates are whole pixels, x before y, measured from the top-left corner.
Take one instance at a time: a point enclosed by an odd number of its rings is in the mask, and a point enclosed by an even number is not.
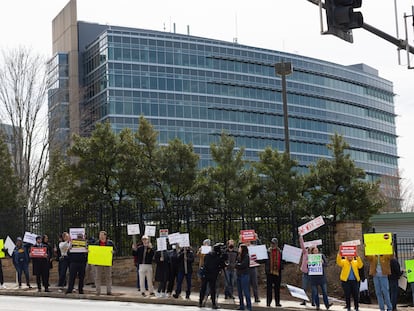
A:
[[[73,2],[64,10],[73,10]],[[69,120],[77,124],[70,132],[89,135],[96,122],[107,120],[115,131],[136,130],[143,115],[161,144],[176,137],[192,143],[200,166],[211,164],[210,144],[223,131],[245,147],[249,160],[267,146],[283,152],[282,86],[274,66],[284,61],[293,67],[287,76],[290,152],[301,167],[329,156],[326,145],[338,133],[370,178],[398,172],[393,84],[364,64],[171,32],[67,25],[77,41],[59,50],[65,28],[55,30],[54,53],[68,53],[69,68],[77,71],[69,83],[70,90],[78,83],[79,94],[69,92],[76,106]]]

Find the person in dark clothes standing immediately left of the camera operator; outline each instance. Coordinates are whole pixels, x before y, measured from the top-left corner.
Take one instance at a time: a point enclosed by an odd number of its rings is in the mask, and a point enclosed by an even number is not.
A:
[[[187,283],[187,290],[185,292],[185,298],[190,299],[191,294],[191,278],[193,275],[193,262],[194,253],[189,247],[183,247],[178,254],[178,275],[177,275],[177,288],[175,289],[174,298],[178,298],[181,294],[181,288],[184,277]]]

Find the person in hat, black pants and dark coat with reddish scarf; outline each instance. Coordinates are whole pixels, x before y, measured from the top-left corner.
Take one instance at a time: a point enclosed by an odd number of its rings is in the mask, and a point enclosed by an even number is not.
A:
[[[277,238],[272,238],[267,251],[268,259],[265,264],[266,271],[266,306],[272,303],[272,291],[275,293],[276,307],[280,304],[280,282],[282,280],[282,251],[278,247]]]

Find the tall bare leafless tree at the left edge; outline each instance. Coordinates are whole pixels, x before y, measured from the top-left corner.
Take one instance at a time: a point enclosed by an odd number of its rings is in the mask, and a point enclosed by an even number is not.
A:
[[[10,124],[20,199],[31,217],[43,198],[48,165],[46,62],[27,48],[3,50],[0,122]]]

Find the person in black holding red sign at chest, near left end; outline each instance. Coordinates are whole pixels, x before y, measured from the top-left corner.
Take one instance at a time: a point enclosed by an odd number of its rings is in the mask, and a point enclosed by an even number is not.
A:
[[[49,254],[48,254],[48,246],[42,242],[42,237],[38,235],[36,237],[36,243],[32,246],[32,248],[42,248],[44,252],[42,252],[39,257],[31,257],[32,259],[32,266],[33,266],[33,275],[36,276],[36,284],[37,290],[40,292],[42,290],[42,284],[45,288],[45,292],[49,292]]]

